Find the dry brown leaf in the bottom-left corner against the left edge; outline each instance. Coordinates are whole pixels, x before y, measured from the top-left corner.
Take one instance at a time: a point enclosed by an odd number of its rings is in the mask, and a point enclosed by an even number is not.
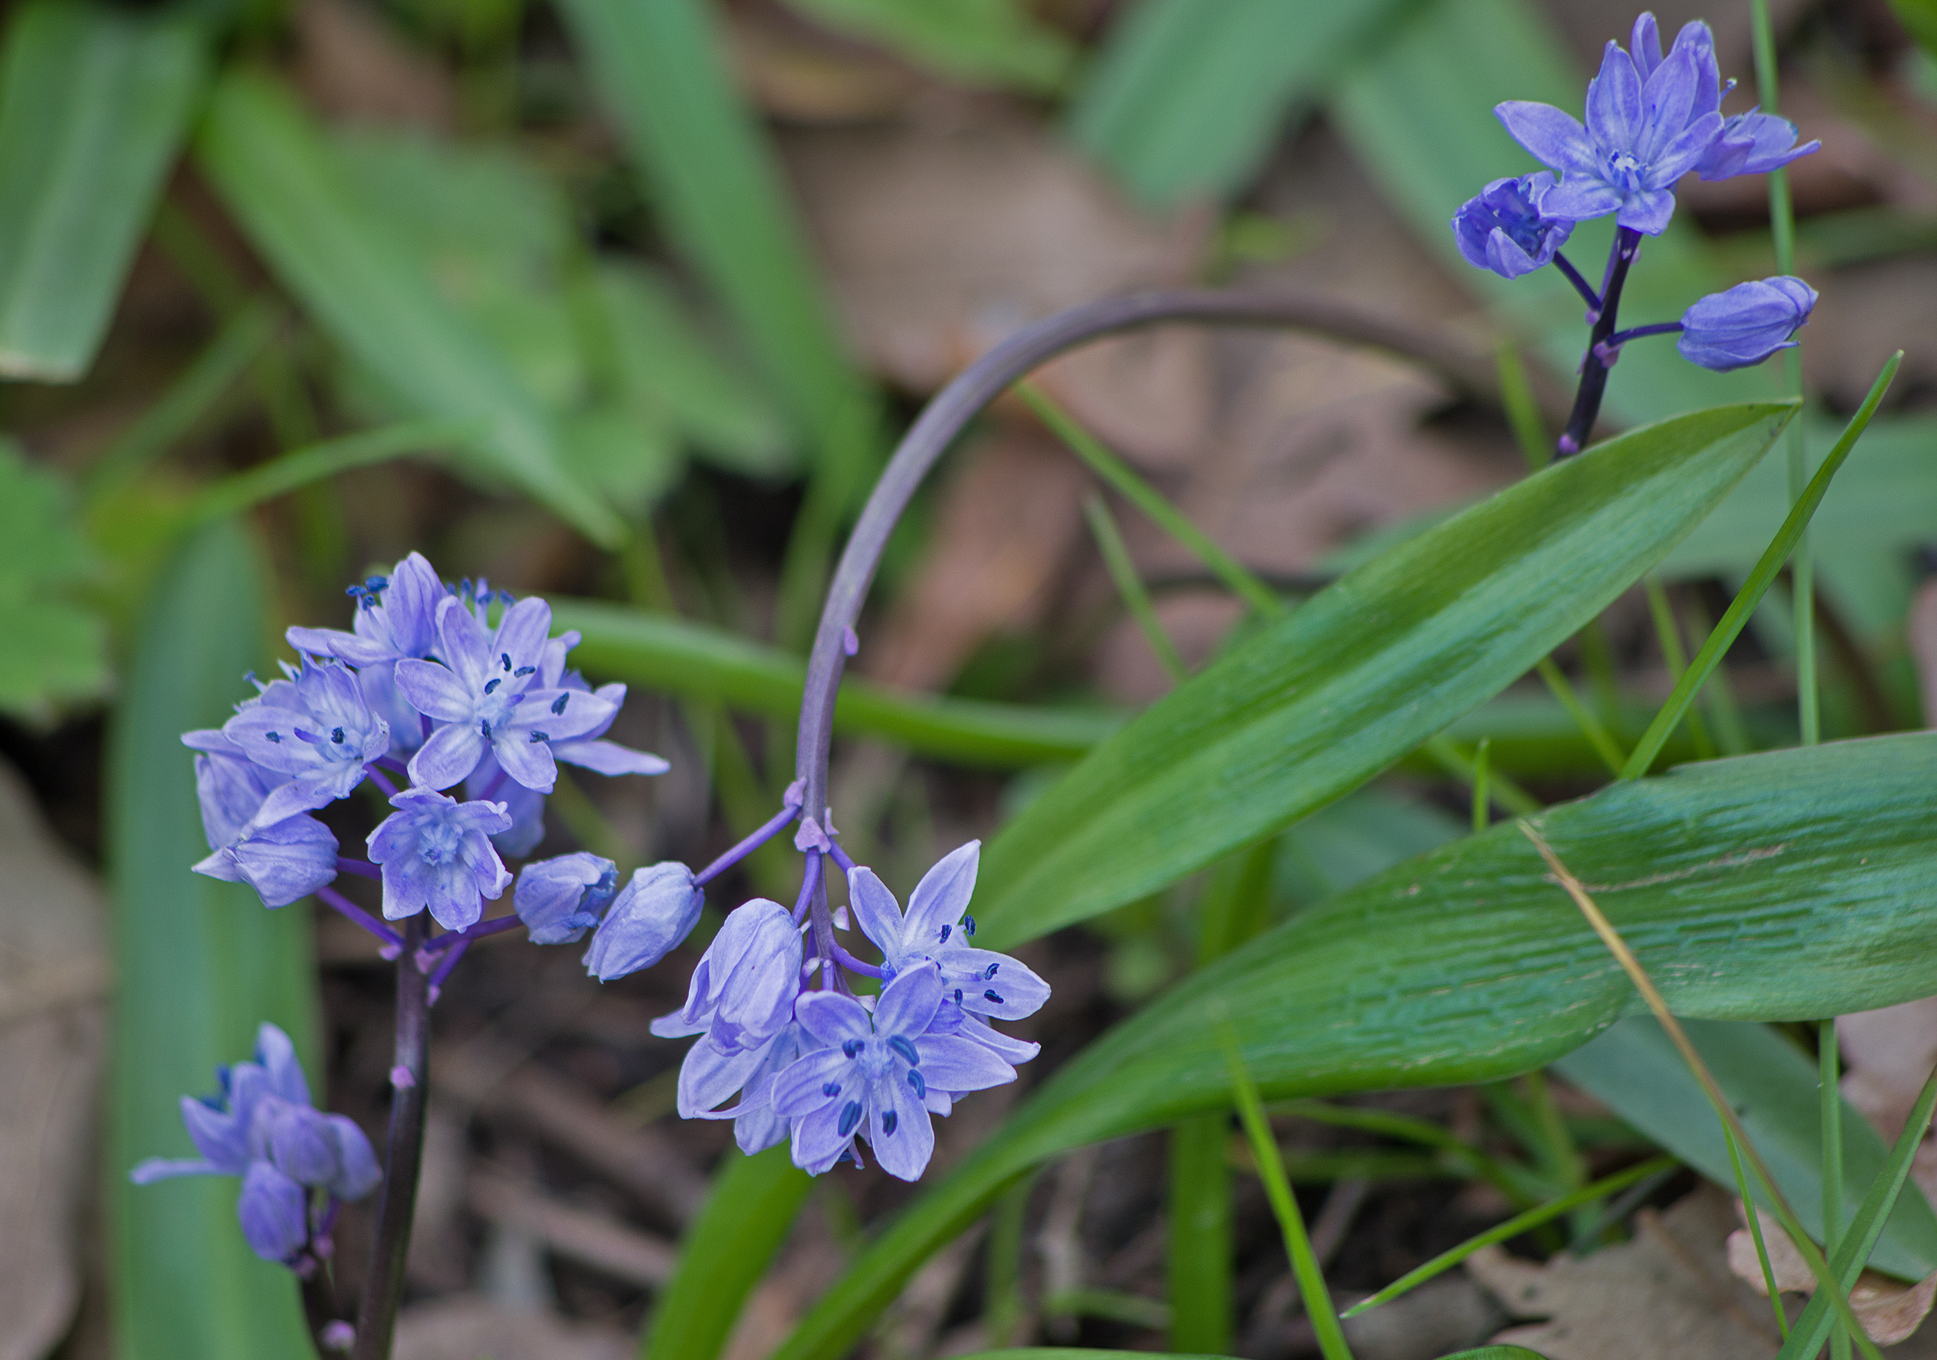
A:
[[[107,978],[101,889],[0,765],[0,1360],[54,1348],[81,1296]]]

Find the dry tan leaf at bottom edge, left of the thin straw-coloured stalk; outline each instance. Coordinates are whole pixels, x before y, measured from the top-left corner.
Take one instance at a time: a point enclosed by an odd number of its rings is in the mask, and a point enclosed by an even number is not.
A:
[[[1486,1248],[1466,1269],[1515,1317],[1544,1317],[1493,1341],[1550,1360],[1768,1360],[1778,1339],[1768,1304],[1734,1279],[1722,1240],[1730,1199],[1697,1190],[1668,1213],[1635,1217],[1635,1238],[1546,1265]]]

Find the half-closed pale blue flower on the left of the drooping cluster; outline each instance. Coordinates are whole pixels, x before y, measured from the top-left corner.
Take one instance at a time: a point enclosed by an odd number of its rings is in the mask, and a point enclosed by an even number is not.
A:
[[[742,903],[699,955],[686,1005],[653,1021],[653,1033],[707,1035],[724,1054],[763,1048],[794,1017],[800,957],[800,928],[786,907],[765,897]]]

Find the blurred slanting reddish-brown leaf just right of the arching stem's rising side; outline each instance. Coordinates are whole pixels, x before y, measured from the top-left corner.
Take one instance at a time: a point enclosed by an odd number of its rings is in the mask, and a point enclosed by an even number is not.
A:
[[[920,572],[864,641],[864,668],[889,684],[947,684],[990,634],[1032,624],[1077,541],[1089,473],[1046,436],[1001,434],[967,457]]]

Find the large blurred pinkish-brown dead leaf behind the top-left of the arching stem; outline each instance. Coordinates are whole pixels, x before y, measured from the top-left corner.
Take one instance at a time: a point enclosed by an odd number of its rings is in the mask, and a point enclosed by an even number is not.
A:
[[[934,391],[1019,325],[1195,277],[1209,217],[1137,215],[1048,130],[998,103],[965,101],[955,114],[786,141],[848,331],[893,382]],[[1203,331],[1092,345],[1040,380],[1127,457],[1174,465],[1199,449]]]

